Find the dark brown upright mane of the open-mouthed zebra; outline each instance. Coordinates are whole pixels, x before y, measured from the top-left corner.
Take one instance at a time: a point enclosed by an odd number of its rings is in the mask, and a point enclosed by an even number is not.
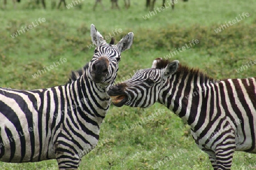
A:
[[[169,63],[172,62],[169,59],[163,59],[163,58],[156,58],[156,61],[157,62],[155,64],[155,69],[164,69]],[[200,78],[213,80],[212,77],[210,77],[207,74],[203,73],[199,69],[189,68],[188,66],[183,66],[181,64],[179,64],[179,69],[176,71],[175,74],[179,74],[179,75],[196,75],[196,76],[199,76]]]

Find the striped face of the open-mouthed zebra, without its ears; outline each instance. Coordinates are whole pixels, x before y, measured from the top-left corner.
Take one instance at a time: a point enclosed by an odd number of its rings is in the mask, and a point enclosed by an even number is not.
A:
[[[139,70],[131,79],[110,87],[108,94],[117,107],[150,107],[158,100],[161,80],[161,70]]]

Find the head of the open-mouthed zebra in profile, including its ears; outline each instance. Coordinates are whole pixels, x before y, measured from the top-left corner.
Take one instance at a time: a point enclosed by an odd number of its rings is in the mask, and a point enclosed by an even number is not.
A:
[[[179,68],[179,61],[162,63],[162,58],[156,58],[151,69],[139,70],[131,79],[110,87],[108,95],[117,107],[146,108],[159,99],[160,89],[166,86],[170,77]],[[163,66],[159,66],[165,64]],[[167,66],[166,66],[167,65]]]

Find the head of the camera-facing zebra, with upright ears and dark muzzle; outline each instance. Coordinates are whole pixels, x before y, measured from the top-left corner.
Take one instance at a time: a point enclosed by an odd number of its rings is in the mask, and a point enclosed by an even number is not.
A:
[[[121,52],[129,49],[133,44],[133,33],[128,33],[116,45],[114,45],[114,39],[108,44],[92,24],[90,36],[96,48],[89,62],[88,77],[95,83],[113,84],[117,76]]]

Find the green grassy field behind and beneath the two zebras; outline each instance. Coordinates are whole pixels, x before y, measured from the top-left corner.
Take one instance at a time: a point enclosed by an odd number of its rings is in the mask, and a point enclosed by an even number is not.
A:
[[[134,32],[132,48],[122,53],[117,81],[130,78],[137,69],[151,67],[157,57],[179,59],[183,65],[200,68],[216,79],[256,75],[256,66],[248,64],[256,59],[254,0],[179,0],[175,10],[166,8],[152,16],[144,1],[132,0],[128,10],[120,1],[121,10],[110,10],[107,0],[105,11],[100,6],[93,11],[94,1],[60,10],[52,10],[50,2],[43,10],[28,1],[17,4],[15,10],[10,1],[0,10],[0,87],[31,90],[67,82],[71,70],[79,69],[93,56],[94,49],[88,48],[92,23],[103,36],[113,36],[121,29],[114,36],[118,41],[127,32]],[[156,7],[160,4],[157,1]],[[145,15],[150,17],[144,19]],[[39,18],[45,22],[40,23]],[[229,24],[233,20],[237,22]],[[36,27],[11,37],[32,23]],[[224,24],[229,27],[222,29]],[[221,32],[216,33],[217,28]],[[199,43],[191,45],[193,40]],[[179,50],[184,46],[185,50]],[[38,70],[60,58],[67,62],[33,78]],[[135,127],[152,113],[158,116]],[[171,161],[167,162],[167,157]],[[255,162],[255,155],[236,152],[232,169],[256,169]],[[212,169],[207,154],[193,141],[189,126],[162,105],[147,109],[112,105],[101,126],[99,144],[82,158],[80,169],[154,169],[159,163],[159,169]],[[49,170],[57,169],[57,163],[0,163],[0,169]]]

